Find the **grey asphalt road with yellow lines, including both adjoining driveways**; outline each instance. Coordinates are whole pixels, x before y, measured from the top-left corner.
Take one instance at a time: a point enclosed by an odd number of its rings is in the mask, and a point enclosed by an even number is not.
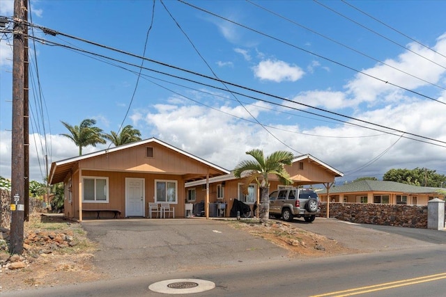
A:
[[[167,296],[148,287],[178,279],[215,288],[177,296],[445,296],[444,231],[325,218],[293,224],[366,253],[289,259],[272,243],[216,220],[92,220],[83,225],[100,242],[95,261],[112,280],[1,296]]]

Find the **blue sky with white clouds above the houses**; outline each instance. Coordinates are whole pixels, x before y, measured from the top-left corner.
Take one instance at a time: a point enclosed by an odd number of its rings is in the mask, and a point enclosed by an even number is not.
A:
[[[260,148],[312,154],[344,172],[339,183],[391,168],[446,174],[446,1],[185,2],[155,1],[153,13],[153,1],[31,1],[29,21],[61,33],[32,32],[46,41],[30,42],[31,179],[43,181],[45,154],[77,156],[61,121],[86,118],[229,170]],[[10,177],[12,37],[0,34]]]

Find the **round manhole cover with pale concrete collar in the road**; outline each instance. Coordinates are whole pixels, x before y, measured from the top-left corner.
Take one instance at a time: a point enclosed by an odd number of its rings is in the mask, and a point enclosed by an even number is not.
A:
[[[178,280],[163,280],[148,286],[151,291],[164,294],[194,294],[215,288],[215,284],[208,280],[183,278]]]

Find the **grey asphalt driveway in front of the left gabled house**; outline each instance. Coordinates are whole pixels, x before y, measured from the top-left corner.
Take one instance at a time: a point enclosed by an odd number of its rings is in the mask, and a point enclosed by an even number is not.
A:
[[[287,251],[219,220],[86,220],[95,266],[112,278],[287,259]]]

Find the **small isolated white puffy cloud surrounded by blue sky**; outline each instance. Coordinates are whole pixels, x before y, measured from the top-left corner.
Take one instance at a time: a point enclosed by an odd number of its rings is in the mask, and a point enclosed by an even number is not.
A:
[[[297,81],[305,72],[296,65],[289,65],[284,61],[261,61],[253,67],[254,76],[261,80],[275,81]]]

